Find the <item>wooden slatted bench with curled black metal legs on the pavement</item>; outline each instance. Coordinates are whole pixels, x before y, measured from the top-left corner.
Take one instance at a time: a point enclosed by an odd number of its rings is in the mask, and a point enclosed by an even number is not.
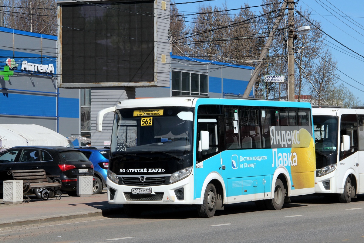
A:
[[[25,195],[31,189],[41,189],[39,194],[43,200],[49,198],[49,192],[55,192],[56,199],[61,199],[61,194],[56,192],[61,186],[62,182],[59,178],[54,178],[52,182],[48,181],[48,177],[59,177],[59,176],[47,176],[46,171],[43,169],[39,170],[24,170],[24,171],[8,171],[8,175],[12,175],[14,180],[23,180],[23,196],[27,197],[24,199],[25,203],[29,203],[30,198]]]

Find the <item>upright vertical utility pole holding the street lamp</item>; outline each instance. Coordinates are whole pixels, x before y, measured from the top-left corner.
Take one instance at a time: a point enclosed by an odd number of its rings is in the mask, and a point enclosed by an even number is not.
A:
[[[294,101],[294,0],[288,0],[288,101]]]

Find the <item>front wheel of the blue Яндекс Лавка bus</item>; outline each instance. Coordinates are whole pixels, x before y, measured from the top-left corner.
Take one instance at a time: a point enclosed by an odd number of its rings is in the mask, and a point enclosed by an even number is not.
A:
[[[203,204],[198,205],[198,215],[200,217],[213,217],[216,211],[216,188],[214,184],[207,185],[203,196]]]

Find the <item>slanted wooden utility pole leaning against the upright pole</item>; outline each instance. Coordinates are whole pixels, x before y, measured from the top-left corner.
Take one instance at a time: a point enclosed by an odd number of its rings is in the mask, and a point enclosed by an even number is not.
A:
[[[289,0],[289,1],[291,1],[291,0]],[[261,52],[261,54],[259,56],[259,59],[258,59],[258,65],[254,68],[252,77],[250,77],[248,86],[246,86],[243,98],[248,98],[249,97],[250,91],[252,90],[252,88],[254,86],[254,82],[257,79],[260,68],[261,68],[261,66],[263,64],[263,59],[267,55],[269,47],[273,42],[274,32],[276,32],[276,30],[278,28],[278,24],[280,23],[281,19],[283,18],[283,15],[284,15],[284,12],[285,12],[286,8],[287,8],[287,2],[284,1],[283,4],[282,4],[282,7],[281,7],[280,14],[278,15],[276,21],[274,21],[272,31],[269,32],[267,42],[265,43],[265,46],[262,48],[262,52]]]

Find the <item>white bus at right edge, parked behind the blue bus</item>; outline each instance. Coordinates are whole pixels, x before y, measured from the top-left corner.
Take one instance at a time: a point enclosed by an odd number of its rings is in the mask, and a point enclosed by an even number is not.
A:
[[[363,107],[364,108],[364,107]],[[364,109],[312,108],[316,193],[336,193],[350,203],[364,193]]]

